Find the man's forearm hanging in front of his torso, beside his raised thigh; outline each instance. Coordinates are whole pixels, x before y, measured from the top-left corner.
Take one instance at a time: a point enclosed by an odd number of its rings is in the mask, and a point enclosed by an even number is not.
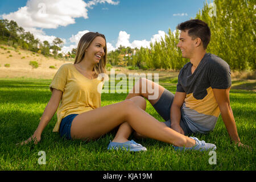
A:
[[[184,135],[183,129],[180,127],[180,107],[183,105],[185,100],[186,93],[185,92],[176,92],[174,96],[174,101],[171,106],[171,128]]]

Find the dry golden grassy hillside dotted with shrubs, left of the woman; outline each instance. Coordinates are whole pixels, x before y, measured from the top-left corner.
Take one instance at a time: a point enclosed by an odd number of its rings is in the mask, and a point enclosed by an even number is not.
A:
[[[51,79],[61,65],[72,63],[23,49],[14,49],[9,46],[0,47],[0,78]],[[30,61],[37,61],[39,67],[32,69]],[[10,67],[5,67],[6,64],[9,64]],[[50,66],[55,68],[49,68]]]

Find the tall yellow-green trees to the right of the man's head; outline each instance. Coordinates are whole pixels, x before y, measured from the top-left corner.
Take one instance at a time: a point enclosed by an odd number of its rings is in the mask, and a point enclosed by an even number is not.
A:
[[[247,0],[215,0],[216,16],[210,17],[206,2],[196,18],[208,24],[212,40],[207,48],[224,59],[232,69],[256,69],[255,3]]]

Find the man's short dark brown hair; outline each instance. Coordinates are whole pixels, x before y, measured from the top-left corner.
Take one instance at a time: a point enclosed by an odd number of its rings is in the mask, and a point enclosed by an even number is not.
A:
[[[192,40],[200,38],[203,42],[204,49],[207,48],[210,42],[210,28],[207,23],[200,19],[191,19],[178,24],[177,29],[181,31],[188,30],[188,35],[192,37]]]

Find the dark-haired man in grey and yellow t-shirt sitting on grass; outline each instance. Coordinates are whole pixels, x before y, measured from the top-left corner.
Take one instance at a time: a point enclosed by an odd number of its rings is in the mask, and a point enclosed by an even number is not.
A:
[[[192,19],[180,23],[177,29],[181,31],[177,47],[181,49],[182,57],[190,61],[180,70],[175,96],[163,86],[140,79],[126,99],[134,96],[148,99],[148,96],[155,93],[148,93],[147,86],[142,89],[145,86],[143,83],[153,88],[157,86],[158,89],[154,90],[158,90],[158,98],[148,101],[163,117],[167,126],[184,135],[208,133],[214,129],[221,113],[230,138],[238,146],[243,146],[229,101],[230,67],[220,57],[206,53],[210,42],[208,24]],[[140,92],[136,93],[135,88],[138,87]]]

